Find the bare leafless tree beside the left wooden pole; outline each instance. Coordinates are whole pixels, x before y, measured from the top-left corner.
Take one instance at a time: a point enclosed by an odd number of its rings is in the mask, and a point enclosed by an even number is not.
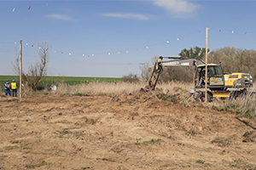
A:
[[[49,45],[47,42],[43,42],[39,46],[39,58],[36,64],[30,65],[27,73],[22,72],[22,80],[24,84],[33,90],[37,89],[38,83],[41,81],[42,77],[47,74],[47,65],[49,62]],[[17,73],[20,71],[19,56],[15,59],[15,64],[13,64],[13,69]]]

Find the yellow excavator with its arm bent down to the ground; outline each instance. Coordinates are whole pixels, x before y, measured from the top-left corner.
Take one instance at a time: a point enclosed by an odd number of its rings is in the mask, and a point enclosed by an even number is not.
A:
[[[164,59],[171,59],[165,61]],[[248,88],[253,87],[253,77],[249,73],[232,73],[224,74],[221,63],[207,64],[207,80],[205,80],[206,64],[202,59],[186,59],[177,57],[160,56],[151,67],[149,74],[148,86],[146,90],[154,90],[160,74],[164,68],[170,66],[194,66],[195,72],[193,77],[194,89],[191,95],[197,101],[205,101],[205,88],[207,83],[207,101],[214,98],[236,98],[240,95],[247,94]]]

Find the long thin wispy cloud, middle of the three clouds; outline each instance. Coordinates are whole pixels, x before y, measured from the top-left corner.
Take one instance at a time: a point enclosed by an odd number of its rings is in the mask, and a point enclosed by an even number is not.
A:
[[[131,20],[149,20],[152,15],[149,14],[135,14],[135,13],[106,13],[102,14],[103,16],[114,17],[114,18],[123,18]]]

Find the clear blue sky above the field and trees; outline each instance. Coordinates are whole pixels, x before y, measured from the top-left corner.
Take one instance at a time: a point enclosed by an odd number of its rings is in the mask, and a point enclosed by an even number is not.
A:
[[[74,77],[140,75],[139,63],[154,55],[205,47],[206,27],[211,50],[255,49],[255,6],[255,1],[0,0],[0,75],[15,75],[11,63],[20,40],[25,72],[47,42],[48,75]]]

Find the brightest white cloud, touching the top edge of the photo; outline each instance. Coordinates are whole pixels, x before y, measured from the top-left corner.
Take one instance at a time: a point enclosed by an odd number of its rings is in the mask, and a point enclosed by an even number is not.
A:
[[[154,0],[154,5],[165,8],[177,17],[193,16],[201,8],[201,5],[186,0]]]

